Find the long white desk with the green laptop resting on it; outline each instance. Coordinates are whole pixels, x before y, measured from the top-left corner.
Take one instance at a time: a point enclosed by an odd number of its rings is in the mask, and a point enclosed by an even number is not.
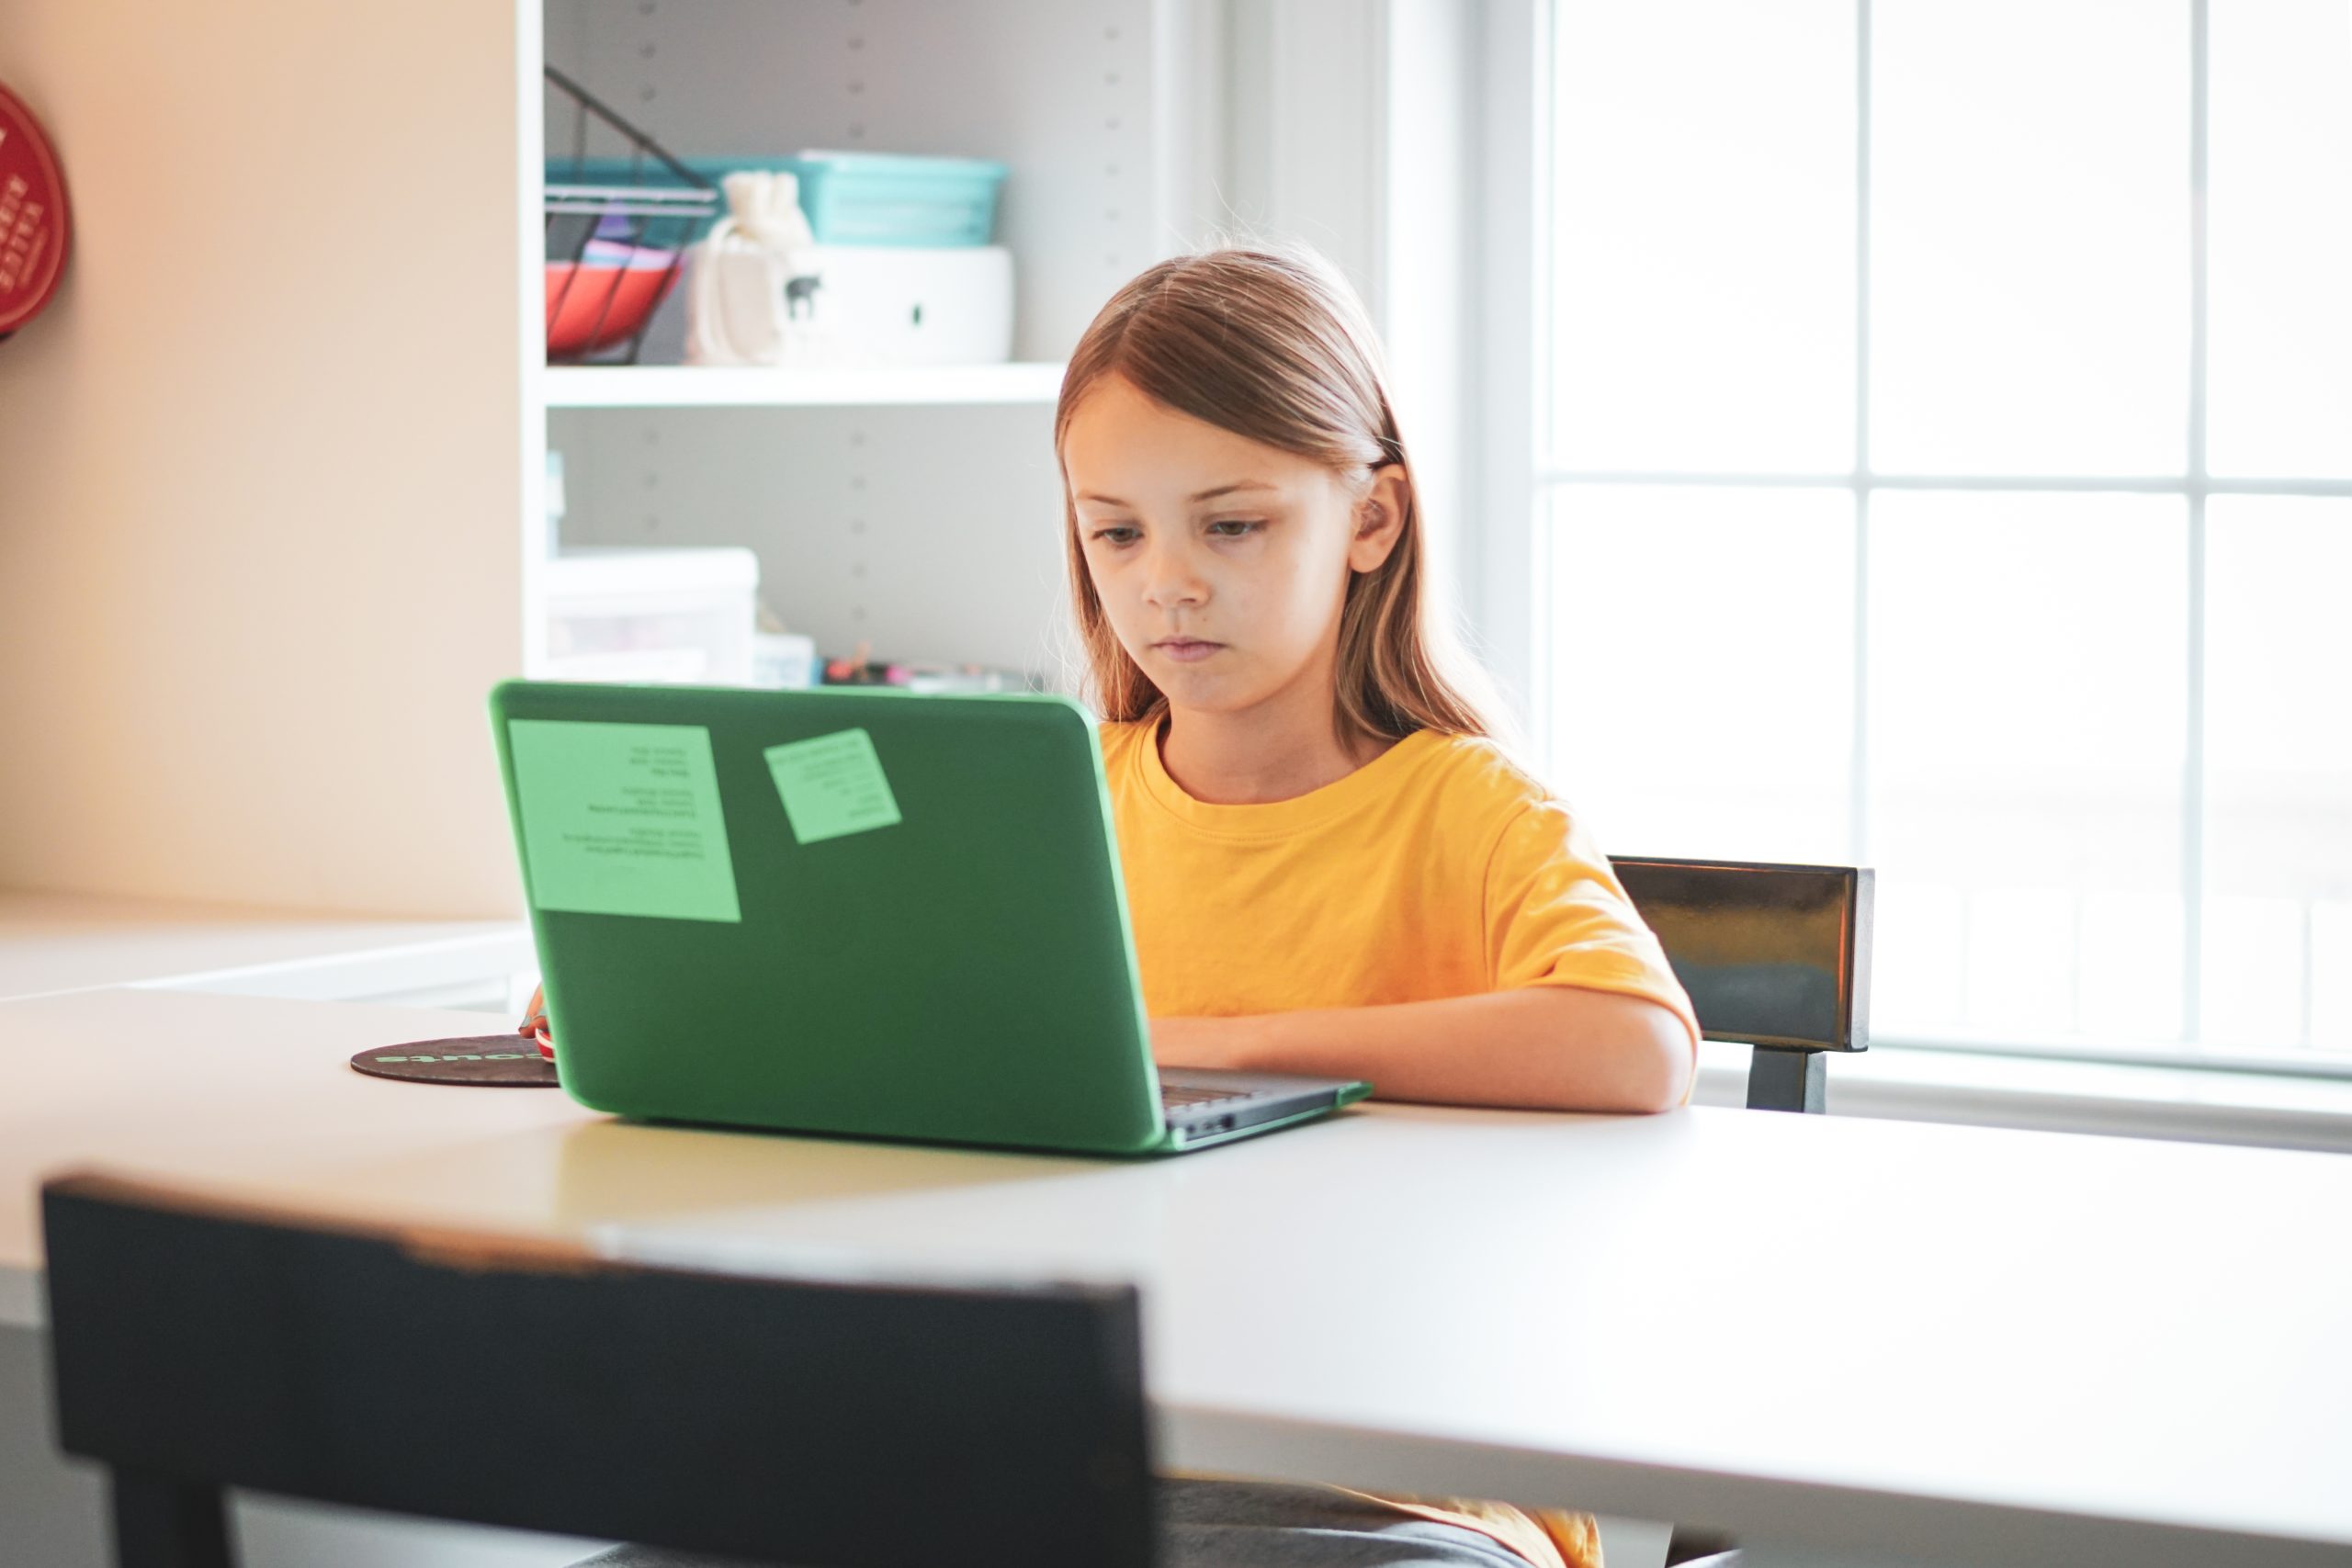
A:
[[[343,1067],[477,1030],[0,1004],[0,1319],[38,1305],[38,1175],[103,1161],[746,1269],[1134,1276],[1171,1465],[1684,1519],[1804,1563],[2352,1559],[2340,1157],[1383,1107],[1098,1164],[626,1126]]]

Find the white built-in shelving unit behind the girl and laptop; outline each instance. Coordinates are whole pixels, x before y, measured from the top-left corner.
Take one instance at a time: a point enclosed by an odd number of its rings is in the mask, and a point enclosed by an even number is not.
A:
[[[746,545],[762,599],[828,654],[1056,679],[1063,360],[1120,282],[1207,228],[1181,216],[1188,73],[1221,0],[522,2],[548,63],[682,158],[1009,165],[995,240],[1014,252],[1016,362],[532,367],[527,423],[564,456],[562,541]],[[527,127],[548,113],[546,150],[569,150],[567,113],[524,110]],[[536,668],[536,571],[524,581]]]

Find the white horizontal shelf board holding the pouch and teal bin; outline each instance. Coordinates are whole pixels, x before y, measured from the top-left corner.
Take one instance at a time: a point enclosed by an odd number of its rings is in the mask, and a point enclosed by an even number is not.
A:
[[[550,409],[797,409],[866,404],[1051,404],[1061,364],[769,369],[734,364],[550,364]]]

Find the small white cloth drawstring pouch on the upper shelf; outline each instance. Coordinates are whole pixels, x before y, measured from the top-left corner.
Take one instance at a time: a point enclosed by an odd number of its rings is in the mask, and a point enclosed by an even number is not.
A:
[[[736,169],[687,252],[687,364],[826,364],[830,331],[800,179]]]

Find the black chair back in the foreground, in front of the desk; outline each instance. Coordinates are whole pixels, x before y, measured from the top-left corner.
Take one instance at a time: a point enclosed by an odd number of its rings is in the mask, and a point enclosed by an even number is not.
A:
[[[42,1187],[56,1422],[120,1568],[228,1568],[223,1488],[837,1568],[1143,1568],[1134,1288],[635,1267]]]

